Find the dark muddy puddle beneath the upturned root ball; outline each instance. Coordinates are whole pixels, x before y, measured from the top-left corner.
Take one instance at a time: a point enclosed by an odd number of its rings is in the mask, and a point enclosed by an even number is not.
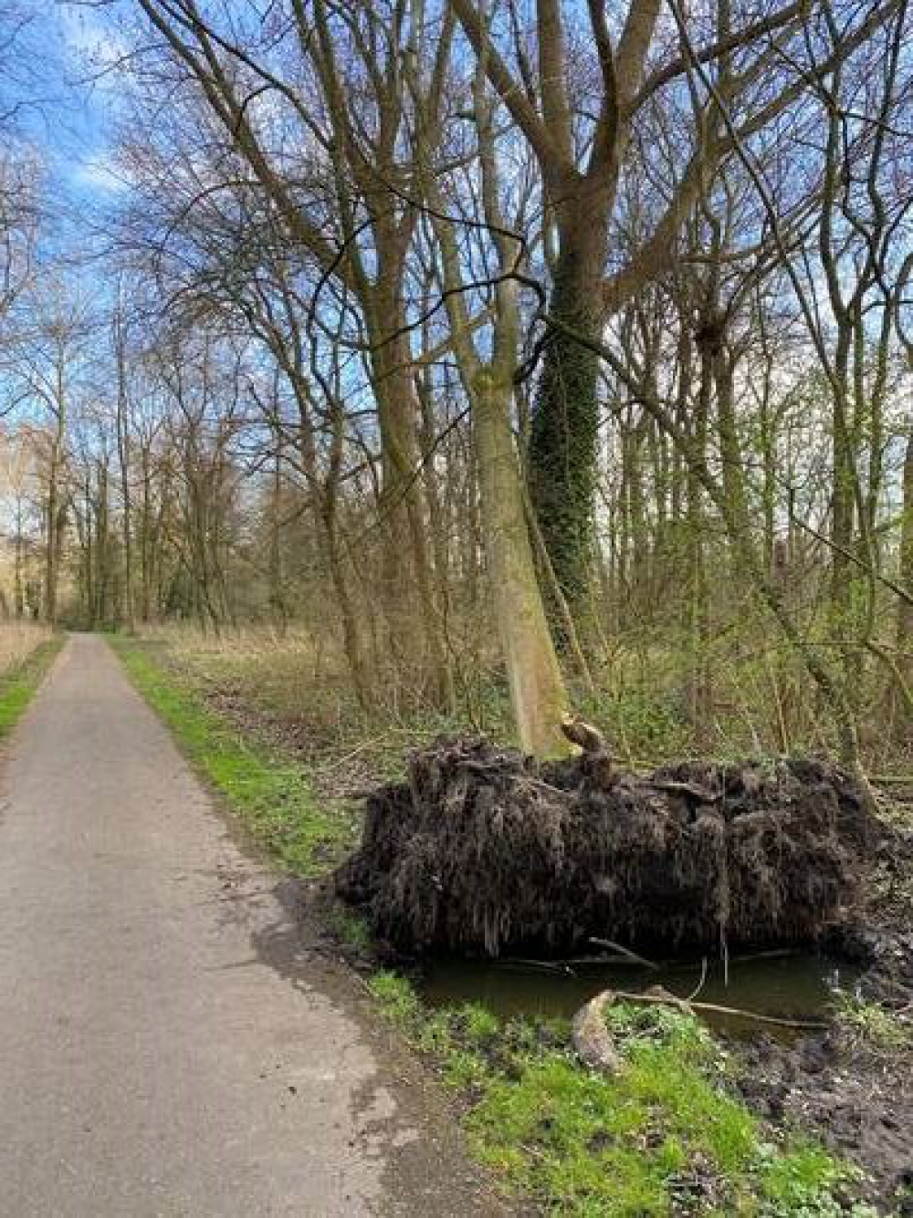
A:
[[[830,1013],[840,990],[852,991],[858,972],[814,952],[757,955],[708,961],[697,999],[759,1015],[820,1019]],[[663,985],[679,998],[697,989],[700,960],[664,963],[656,970],[629,963],[541,965],[523,961],[439,959],[427,966],[421,988],[428,1002],[444,1006],[479,1002],[497,1015],[569,1018],[602,989],[638,991]],[[753,1035],[762,1024],[734,1016],[702,1016],[718,1032]],[[763,1026],[778,1035],[778,1030]],[[795,1033],[794,1033],[795,1034]],[[789,1037],[789,1032],[779,1033]]]

